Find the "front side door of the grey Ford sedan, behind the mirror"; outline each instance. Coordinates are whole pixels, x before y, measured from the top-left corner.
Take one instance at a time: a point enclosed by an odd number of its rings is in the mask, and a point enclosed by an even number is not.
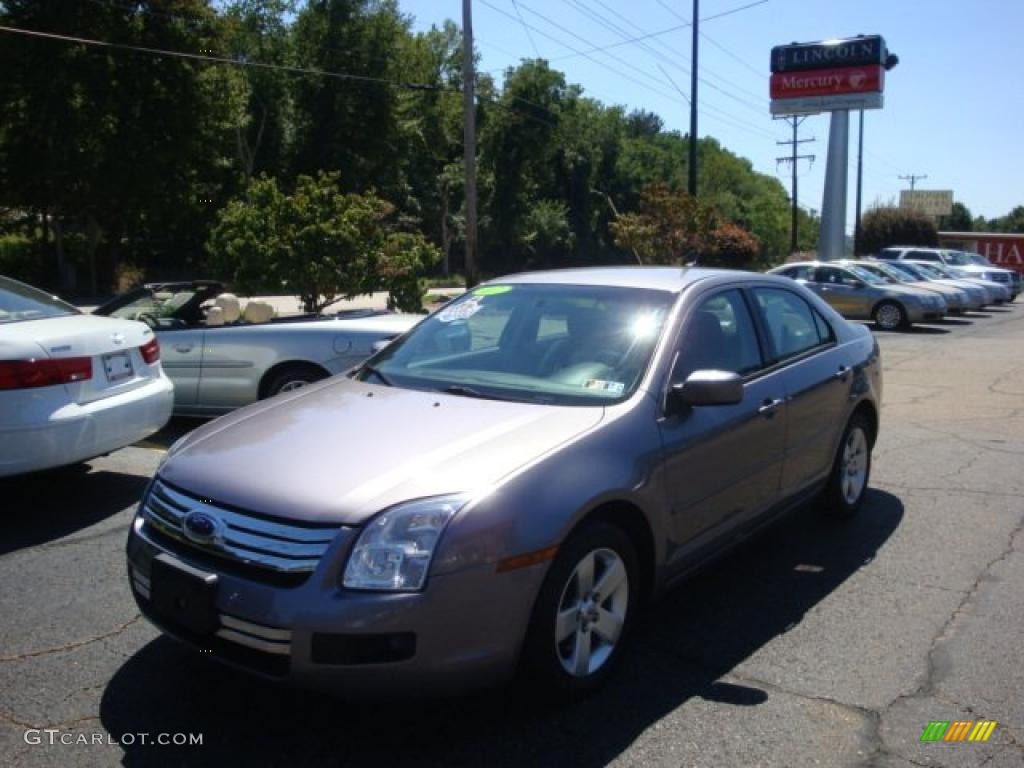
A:
[[[785,441],[784,385],[765,374],[743,292],[705,298],[684,321],[672,382],[694,371],[744,377],[735,406],[694,407],[664,418],[665,486],[673,538],[685,554],[717,540],[777,498]]]

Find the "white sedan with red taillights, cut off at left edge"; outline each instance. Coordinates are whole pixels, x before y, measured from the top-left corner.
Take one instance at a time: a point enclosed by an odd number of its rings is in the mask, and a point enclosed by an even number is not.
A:
[[[140,440],[173,402],[144,323],[84,314],[0,276],[0,477]]]

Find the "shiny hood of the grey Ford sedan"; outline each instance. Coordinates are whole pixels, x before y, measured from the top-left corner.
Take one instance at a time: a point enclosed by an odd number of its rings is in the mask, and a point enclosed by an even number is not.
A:
[[[332,379],[210,422],[159,473],[218,504],[359,524],[410,499],[485,493],[603,414]]]

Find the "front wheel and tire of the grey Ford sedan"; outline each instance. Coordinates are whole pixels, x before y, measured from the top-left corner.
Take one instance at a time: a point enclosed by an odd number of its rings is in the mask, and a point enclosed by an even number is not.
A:
[[[588,570],[595,591],[610,580],[596,599],[586,594]],[[524,681],[561,699],[599,688],[622,655],[639,603],[632,540],[611,523],[585,523],[561,546],[541,586],[523,646]]]

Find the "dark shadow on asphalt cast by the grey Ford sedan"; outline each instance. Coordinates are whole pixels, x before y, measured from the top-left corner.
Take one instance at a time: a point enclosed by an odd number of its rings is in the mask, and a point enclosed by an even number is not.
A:
[[[775,695],[722,678],[869,562],[902,517],[899,499],[881,490],[870,492],[853,520],[798,511],[651,606],[609,684],[575,703],[512,687],[440,700],[345,702],[263,683],[162,637],[115,674],[99,715],[117,738],[203,734],[202,746],[123,744],[129,766],[596,768],[689,699],[757,707]]]

